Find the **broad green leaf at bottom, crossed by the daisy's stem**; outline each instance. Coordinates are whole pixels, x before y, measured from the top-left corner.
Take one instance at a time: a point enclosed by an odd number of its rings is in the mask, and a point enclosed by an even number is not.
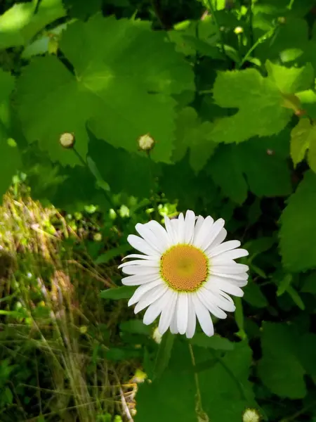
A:
[[[245,407],[256,405],[248,381],[251,349],[246,343],[239,343],[224,357],[205,347],[195,346],[193,351],[203,411],[212,422],[240,422]],[[136,422],[148,419],[152,422],[196,422],[195,395],[188,345],[176,342],[170,364],[162,377],[140,386]],[[164,405],[157,406],[157,402]]]

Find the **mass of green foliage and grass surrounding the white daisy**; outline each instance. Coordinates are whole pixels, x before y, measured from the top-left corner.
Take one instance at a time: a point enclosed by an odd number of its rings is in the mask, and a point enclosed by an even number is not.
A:
[[[315,1],[0,9],[1,421],[315,421]],[[187,209],[249,251],[211,338],[145,326],[117,269]]]

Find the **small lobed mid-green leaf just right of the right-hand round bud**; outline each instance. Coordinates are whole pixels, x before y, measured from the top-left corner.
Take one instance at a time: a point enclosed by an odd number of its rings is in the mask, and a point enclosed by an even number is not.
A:
[[[176,149],[173,160],[182,160],[190,148],[190,165],[198,173],[206,165],[213,154],[216,143],[211,140],[210,122],[200,122],[194,108],[187,107],[180,110],[177,120]]]

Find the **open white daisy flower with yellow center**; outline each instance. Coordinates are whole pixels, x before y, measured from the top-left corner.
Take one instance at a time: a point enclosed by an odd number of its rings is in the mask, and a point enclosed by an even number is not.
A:
[[[214,222],[210,216],[195,217],[190,210],[178,219],[165,217],[166,229],[154,220],[136,224],[141,237],[131,234],[127,240],[143,255],[128,255],[136,260],[119,268],[127,274],[123,284],[139,286],[129,306],[136,304],[136,314],[147,307],[144,324],[152,324],[160,315],[161,334],[170,327],[171,333],[192,338],[198,319],[204,333],[211,336],[211,314],[224,319],[225,312],[235,311],[228,293],[244,294],[241,287],[246,286],[249,269],[235,259],[248,252],[239,249],[239,241],[223,243],[224,224],[221,218]]]

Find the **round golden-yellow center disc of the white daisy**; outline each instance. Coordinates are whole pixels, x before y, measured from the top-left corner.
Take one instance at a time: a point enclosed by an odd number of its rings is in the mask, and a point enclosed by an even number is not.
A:
[[[162,255],[160,271],[173,290],[192,292],[206,281],[208,259],[195,246],[176,245]]]

